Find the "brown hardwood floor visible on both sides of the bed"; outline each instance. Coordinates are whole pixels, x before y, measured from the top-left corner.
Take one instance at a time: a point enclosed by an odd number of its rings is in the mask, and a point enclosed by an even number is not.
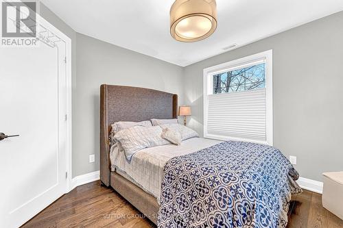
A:
[[[321,195],[304,191],[292,203],[287,228],[343,227],[343,220],[322,207]],[[99,181],[60,197],[22,227],[156,227],[130,203]]]

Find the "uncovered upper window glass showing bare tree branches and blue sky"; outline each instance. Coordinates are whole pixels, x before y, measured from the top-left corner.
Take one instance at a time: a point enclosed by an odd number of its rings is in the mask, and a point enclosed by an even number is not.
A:
[[[265,88],[265,64],[213,75],[213,94]]]

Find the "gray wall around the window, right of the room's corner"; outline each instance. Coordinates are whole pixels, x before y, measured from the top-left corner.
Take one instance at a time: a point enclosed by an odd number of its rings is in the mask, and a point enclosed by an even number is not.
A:
[[[274,147],[298,158],[300,176],[343,170],[343,12],[185,68],[190,125],[203,134],[202,70],[273,49]]]

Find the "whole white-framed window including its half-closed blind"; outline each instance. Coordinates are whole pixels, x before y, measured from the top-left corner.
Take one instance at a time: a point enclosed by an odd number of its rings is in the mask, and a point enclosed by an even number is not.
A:
[[[272,50],[204,69],[204,137],[273,144]]]

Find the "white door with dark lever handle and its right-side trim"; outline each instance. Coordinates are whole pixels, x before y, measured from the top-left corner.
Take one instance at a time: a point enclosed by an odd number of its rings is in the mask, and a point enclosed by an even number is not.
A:
[[[66,50],[63,40],[0,47],[0,132],[19,134],[0,140],[0,227],[23,225],[67,191]]]

